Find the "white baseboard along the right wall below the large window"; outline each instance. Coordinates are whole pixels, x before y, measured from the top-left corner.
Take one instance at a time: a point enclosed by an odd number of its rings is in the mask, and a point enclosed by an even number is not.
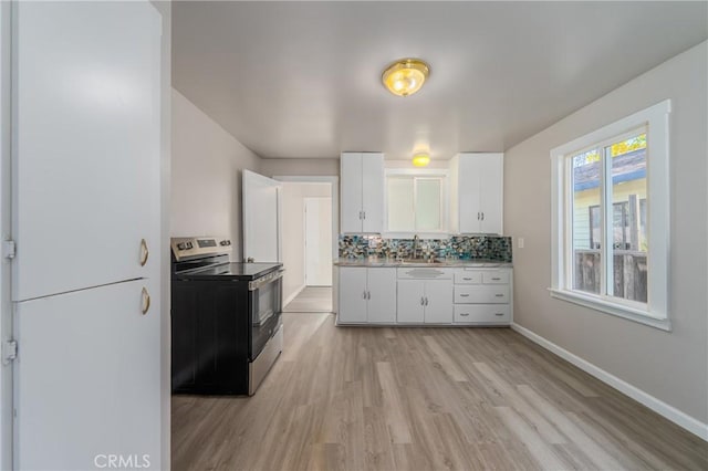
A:
[[[708,441],[708,423],[704,423],[700,420],[697,420],[690,417],[689,415],[681,412],[674,406],[669,406],[668,404],[643,391],[636,386],[632,386],[627,381],[617,378],[616,376],[605,371],[604,369],[593,365],[587,360],[584,360],[577,355],[570,353],[565,348],[562,348],[555,345],[554,343],[541,337],[540,335],[529,331],[525,327],[520,326],[519,324],[516,324],[516,323],[511,324],[511,328],[517,331],[519,334],[523,335],[524,337],[529,338],[531,342],[554,353],[555,355],[560,356],[566,362],[572,363],[583,371],[612,386],[613,388],[617,389],[620,393],[626,396],[629,396],[632,399],[636,400],[637,402],[643,404],[644,406],[654,410],[656,414],[664,416],[665,418],[676,423],[677,426],[688,430],[689,432],[701,438],[702,440]]]

